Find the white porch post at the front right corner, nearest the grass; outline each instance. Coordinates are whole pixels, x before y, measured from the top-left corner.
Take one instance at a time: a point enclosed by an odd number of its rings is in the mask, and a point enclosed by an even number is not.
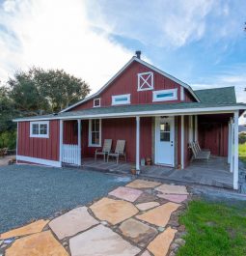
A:
[[[238,110],[234,112],[233,188],[238,189]]]

